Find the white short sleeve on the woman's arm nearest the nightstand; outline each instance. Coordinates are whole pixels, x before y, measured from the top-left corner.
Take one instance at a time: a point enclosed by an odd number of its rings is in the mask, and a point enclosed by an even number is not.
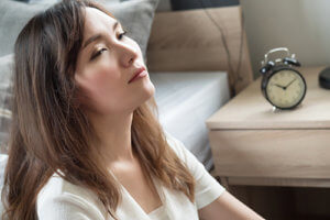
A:
[[[195,200],[197,209],[201,209],[215,201],[226,190],[205,168],[205,166],[188,151],[183,142],[166,133],[168,144],[182,158],[196,180]]]

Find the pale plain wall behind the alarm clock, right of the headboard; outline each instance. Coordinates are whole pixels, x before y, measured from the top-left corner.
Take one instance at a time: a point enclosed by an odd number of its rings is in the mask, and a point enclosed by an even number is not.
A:
[[[329,0],[242,0],[254,76],[274,47],[286,46],[304,66],[330,65]]]

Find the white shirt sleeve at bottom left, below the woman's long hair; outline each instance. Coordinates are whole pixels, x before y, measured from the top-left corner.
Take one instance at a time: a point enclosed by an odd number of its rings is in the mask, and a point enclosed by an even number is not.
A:
[[[37,212],[38,220],[105,220],[96,207],[70,194],[45,199]]]

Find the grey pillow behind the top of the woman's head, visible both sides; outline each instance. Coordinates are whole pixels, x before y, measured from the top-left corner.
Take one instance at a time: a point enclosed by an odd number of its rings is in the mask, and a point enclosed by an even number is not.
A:
[[[160,0],[130,0],[124,2],[99,0],[121,22],[128,36],[138,42],[146,63],[146,46],[155,10]],[[54,1],[52,1],[54,2]],[[13,53],[14,42],[36,13],[52,3],[24,3],[12,0],[0,1],[0,56]]]

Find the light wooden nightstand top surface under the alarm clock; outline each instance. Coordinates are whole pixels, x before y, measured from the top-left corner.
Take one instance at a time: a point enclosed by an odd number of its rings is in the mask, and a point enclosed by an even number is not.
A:
[[[307,92],[294,110],[273,111],[262,96],[261,77],[207,121],[210,130],[219,129],[329,129],[330,90],[319,87],[318,74],[324,67],[297,68],[306,79]]]

